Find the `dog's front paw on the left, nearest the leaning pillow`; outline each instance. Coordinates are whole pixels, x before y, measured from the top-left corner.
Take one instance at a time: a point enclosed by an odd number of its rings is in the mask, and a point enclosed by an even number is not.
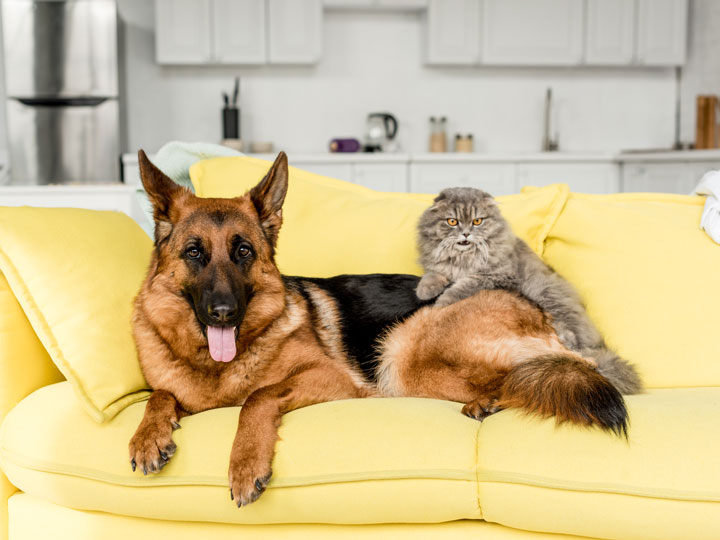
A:
[[[175,421],[140,424],[129,445],[133,472],[139,470],[145,475],[160,472],[177,450],[172,432],[179,427]]]

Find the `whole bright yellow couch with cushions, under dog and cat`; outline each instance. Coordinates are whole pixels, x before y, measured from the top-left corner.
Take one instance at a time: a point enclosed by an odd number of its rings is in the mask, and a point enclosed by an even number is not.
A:
[[[233,196],[266,169],[228,158],[192,175],[199,195]],[[290,182],[283,271],[418,271],[413,229],[430,196],[294,169]],[[0,208],[9,538],[720,538],[720,246],[698,227],[702,203],[564,186],[500,199],[638,366],[648,391],[627,398],[628,441],[512,410],[478,423],[436,400],[324,403],[283,418],[270,487],[242,509],[226,478],[236,408],[184,418],[159,475],[130,470],[127,442],[147,395],[124,349],[129,291],[149,249],[124,243],[135,225],[112,213]],[[124,319],[110,343],[88,328],[112,324],[113,305]]]

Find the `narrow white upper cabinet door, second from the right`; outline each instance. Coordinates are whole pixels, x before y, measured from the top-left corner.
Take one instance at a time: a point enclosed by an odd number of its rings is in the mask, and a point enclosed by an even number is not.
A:
[[[633,61],[635,0],[587,0],[585,63],[623,65]]]

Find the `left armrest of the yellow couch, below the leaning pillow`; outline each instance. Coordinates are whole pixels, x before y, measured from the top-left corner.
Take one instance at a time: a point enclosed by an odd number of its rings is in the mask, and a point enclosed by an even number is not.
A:
[[[0,273],[0,422],[25,396],[63,379]],[[7,538],[7,499],[15,491],[0,473],[0,540]]]

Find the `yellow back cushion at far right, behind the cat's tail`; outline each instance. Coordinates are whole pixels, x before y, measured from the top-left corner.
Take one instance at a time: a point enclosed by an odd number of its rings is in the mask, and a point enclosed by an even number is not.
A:
[[[699,227],[704,202],[572,194],[546,242],[546,261],[651,388],[720,385],[720,246]]]

